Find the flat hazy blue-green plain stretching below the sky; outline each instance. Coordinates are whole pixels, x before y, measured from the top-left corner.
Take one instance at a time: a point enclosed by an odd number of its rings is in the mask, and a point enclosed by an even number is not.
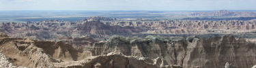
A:
[[[40,22],[42,20],[77,21],[90,16],[104,16],[106,18],[145,18],[168,20],[243,20],[239,17],[195,17],[187,16],[193,12],[212,11],[74,11],[74,10],[26,10],[26,11],[0,11],[0,22]],[[231,12],[256,12],[255,10],[230,10]],[[201,19],[203,18],[203,19]],[[214,18],[214,19],[211,19]],[[256,17],[249,18],[255,19]]]

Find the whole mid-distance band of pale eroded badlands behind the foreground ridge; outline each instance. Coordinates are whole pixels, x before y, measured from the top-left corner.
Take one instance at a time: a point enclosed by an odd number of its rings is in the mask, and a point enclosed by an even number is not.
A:
[[[100,19],[102,20],[102,19]],[[104,19],[103,19],[104,20]],[[255,20],[133,20],[77,22],[1,22],[0,31],[10,37],[55,40],[93,37],[103,40],[112,35],[242,33],[255,31]],[[71,43],[70,43],[71,44]]]

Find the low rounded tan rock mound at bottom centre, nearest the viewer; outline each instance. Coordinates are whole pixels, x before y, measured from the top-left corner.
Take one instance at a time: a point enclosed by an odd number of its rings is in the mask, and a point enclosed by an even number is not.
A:
[[[108,54],[94,56],[83,61],[54,63],[55,67],[80,67],[80,68],[182,68],[177,65],[158,65],[162,61],[154,61],[149,58],[124,56],[122,54]]]

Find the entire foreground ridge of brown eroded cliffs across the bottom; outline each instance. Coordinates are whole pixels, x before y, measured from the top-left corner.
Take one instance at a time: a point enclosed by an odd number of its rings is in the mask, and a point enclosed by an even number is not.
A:
[[[209,39],[115,35],[81,48],[62,41],[0,35],[1,67],[250,68],[256,65],[256,44],[232,35]]]

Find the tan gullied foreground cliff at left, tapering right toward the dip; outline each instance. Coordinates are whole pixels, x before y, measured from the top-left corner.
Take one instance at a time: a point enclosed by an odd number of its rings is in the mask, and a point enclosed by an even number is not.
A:
[[[91,52],[74,49],[61,41],[36,41],[27,38],[1,37],[1,53],[16,66],[54,67],[53,63],[80,61]]]

